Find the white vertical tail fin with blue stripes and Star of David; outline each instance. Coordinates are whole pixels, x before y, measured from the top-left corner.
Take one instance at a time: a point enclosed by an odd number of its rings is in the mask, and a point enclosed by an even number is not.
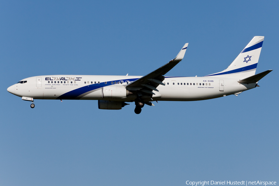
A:
[[[255,36],[227,69],[207,76],[243,79],[255,75],[263,39],[263,36]]]

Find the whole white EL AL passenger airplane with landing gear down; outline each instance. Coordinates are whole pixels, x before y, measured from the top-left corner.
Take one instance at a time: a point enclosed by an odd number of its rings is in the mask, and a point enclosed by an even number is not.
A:
[[[44,75],[25,78],[7,91],[25,101],[98,100],[99,109],[122,109],[135,102],[135,113],[153,101],[196,101],[238,95],[255,88],[272,70],[255,75],[263,36],[255,36],[227,69],[203,77],[164,76],[184,57],[186,43],[175,59],[145,76]]]

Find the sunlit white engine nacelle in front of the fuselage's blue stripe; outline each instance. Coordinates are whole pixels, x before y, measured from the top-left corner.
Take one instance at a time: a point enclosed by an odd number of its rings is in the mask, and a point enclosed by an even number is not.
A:
[[[125,98],[130,94],[130,92],[119,86],[105,86],[102,88],[102,98],[115,99],[115,98]]]

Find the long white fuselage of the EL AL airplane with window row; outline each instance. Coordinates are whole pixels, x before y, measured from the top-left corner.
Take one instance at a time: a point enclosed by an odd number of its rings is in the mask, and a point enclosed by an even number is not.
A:
[[[58,100],[115,100],[131,102],[137,95],[123,98],[103,98],[102,91],[111,86],[125,85],[141,76],[94,76],[94,75],[50,75],[37,76],[21,80],[8,88],[8,91],[20,97],[33,99]],[[195,101],[207,100],[226,95],[237,94],[255,88],[256,83],[241,84],[240,79],[210,77],[165,77],[163,85],[153,91],[154,101]],[[103,90],[102,90],[103,89]],[[143,99],[145,99],[143,97]],[[147,101],[150,98],[146,98]]]

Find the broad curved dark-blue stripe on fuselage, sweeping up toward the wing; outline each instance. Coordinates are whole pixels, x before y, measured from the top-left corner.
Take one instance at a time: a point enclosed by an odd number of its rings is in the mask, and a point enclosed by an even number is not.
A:
[[[74,100],[76,99],[79,95],[82,95],[86,92],[89,91],[93,91],[96,90],[98,88],[102,88],[104,86],[109,86],[112,84],[109,84],[110,82],[119,82],[119,81],[130,81],[133,82],[135,80],[137,80],[138,78],[134,78],[134,79],[120,79],[120,80],[114,80],[114,81],[108,81],[107,84],[105,84],[104,82],[100,82],[100,84],[96,83],[96,84],[91,84],[91,85],[86,85],[80,88],[77,88],[75,90],[69,91],[63,95],[60,95],[58,98],[56,98],[56,100]],[[114,84],[113,84],[114,85]]]

